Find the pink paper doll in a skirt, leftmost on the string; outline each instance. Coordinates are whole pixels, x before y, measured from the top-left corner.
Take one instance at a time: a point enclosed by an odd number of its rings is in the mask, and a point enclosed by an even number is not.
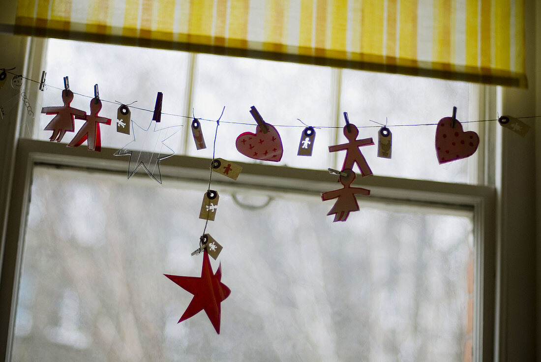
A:
[[[69,89],[62,90],[62,101],[64,106],[61,107],[43,107],[41,113],[56,114],[52,121],[44,128],[46,131],[52,131],[50,141],[62,141],[66,132],[73,132],[75,129],[74,116],[84,117],[86,113],[83,110],[70,107],[73,100],[73,92]]]

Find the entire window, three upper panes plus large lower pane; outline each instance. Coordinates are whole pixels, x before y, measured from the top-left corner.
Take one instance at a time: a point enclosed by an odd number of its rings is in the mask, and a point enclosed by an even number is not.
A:
[[[102,130],[104,149],[97,154],[58,147],[41,131],[45,118],[36,117],[34,129],[27,120],[21,134],[32,137],[20,141],[18,162],[28,168],[18,169],[17,177],[28,183],[16,197],[28,219],[22,219],[24,228],[17,234],[24,242],[9,345],[12,360],[30,359],[39,346],[47,346],[47,352],[39,348],[40,356],[50,360],[117,360],[128,351],[143,360],[366,356],[455,361],[491,356],[491,348],[484,346],[493,338],[494,285],[485,274],[494,267],[494,200],[493,189],[478,177],[484,159],[439,167],[433,129],[391,127],[392,160],[364,153],[378,175],[361,182],[372,190],[371,198],[359,199],[361,211],[348,222],[332,223],[326,216],[332,202],[321,202],[319,193],[336,185],[324,170],[341,164],[340,156],[326,150],[341,140],[340,130],[316,130],[312,157],[297,157],[293,149],[304,127],[296,118],[341,127],[341,111],[347,110],[359,127],[377,126],[368,119],[385,123],[385,117],[389,124],[436,123],[458,106],[459,119],[482,119],[478,100],[483,89],[111,45],[49,41],[48,47],[48,80],[60,83],[68,67],[75,66],[76,75],[70,75],[74,91],[85,88],[81,93],[91,95],[98,83],[103,99],[122,94],[129,99],[119,101],[137,100],[137,107],[152,109],[156,92],[167,89],[168,113],[189,116],[194,108],[196,117],[216,119],[225,104],[226,121],[253,123],[248,109],[255,105],[272,124],[301,127],[279,129],[287,148],[275,166],[250,163],[233,148],[246,126],[224,122],[219,127],[216,155],[248,163],[242,180],[213,178],[220,205],[228,212],[209,232],[220,235],[225,247],[223,281],[233,290],[223,303],[222,334],[216,337],[204,315],[176,324],[191,295],[160,275],[199,273],[199,259],[189,252],[201,232],[194,210],[206,189],[212,150],[195,152],[184,127],[172,140],[177,155],[162,163],[166,181],[157,187],[144,174],[126,181],[127,161],[112,154],[130,139],[114,127]],[[73,56],[92,50],[83,60],[49,58],[59,48]],[[132,51],[137,55],[128,55]],[[100,63],[103,54],[107,57]],[[170,67],[156,64],[169,56]],[[148,68],[126,65],[131,61]],[[82,64],[84,69],[77,71]],[[121,69],[113,70],[115,64]],[[423,93],[423,88],[432,91]],[[59,93],[37,93],[38,107],[56,103]],[[412,107],[428,94],[437,101]],[[389,100],[395,107],[385,107]],[[87,109],[88,102],[76,97],[72,104]],[[117,107],[104,104],[101,114],[114,118]],[[148,122],[150,114],[138,111],[137,117]],[[404,115],[411,118],[399,119]],[[136,122],[137,117],[134,111]],[[163,117],[164,124],[189,121]],[[206,137],[214,127],[203,123]],[[361,132],[374,137],[378,129]],[[413,135],[424,141],[412,142]],[[84,218],[81,210],[95,216]],[[240,346],[239,340],[249,343]],[[201,356],[204,344],[213,348]]]

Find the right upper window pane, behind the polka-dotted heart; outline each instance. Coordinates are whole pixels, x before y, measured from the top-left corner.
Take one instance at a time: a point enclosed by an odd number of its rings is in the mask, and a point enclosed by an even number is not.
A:
[[[349,121],[356,126],[371,127],[359,131],[360,137],[372,137],[376,144],[362,148],[374,175],[476,182],[469,172],[476,169],[478,152],[467,159],[438,163],[434,147],[436,126],[390,127],[392,159],[389,160],[377,157],[381,126],[368,120],[384,124],[388,120],[391,126],[438,123],[443,117],[452,116],[453,106],[457,107],[457,120],[478,120],[478,114],[470,113],[470,93],[477,87],[465,82],[345,69],[340,110],[347,111]],[[477,131],[477,123],[464,123],[463,127],[465,131]],[[345,141],[345,137],[340,135],[339,140]],[[340,165],[343,160],[344,155],[340,155]]]

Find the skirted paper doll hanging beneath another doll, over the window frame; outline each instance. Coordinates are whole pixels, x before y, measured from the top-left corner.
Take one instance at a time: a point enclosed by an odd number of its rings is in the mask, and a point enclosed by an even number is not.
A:
[[[321,200],[323,201],[338,198],[331,211],[329,211],[327,214],[335,214],[333,222],[346,221],[349,212],[359,210],[359,204],[357,203],[357,198],[355,198],[355,195],[370,195],[370,190],[366,188],[349,187],[356,177],[355,173],[351,169],[345,169],[342,170],[342,172],[345,172],[347,176],[340,176],[338,181],[340,181],[344,187],[321,194]]]

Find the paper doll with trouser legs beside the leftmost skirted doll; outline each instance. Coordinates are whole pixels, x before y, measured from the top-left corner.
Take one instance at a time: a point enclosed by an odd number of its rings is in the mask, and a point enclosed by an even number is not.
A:
[[[98,116],[102,107],[100,98],[93,98],[90,101],[90,114],[83,117],[76,116],[78,120],[85,120],[83,127],[77,132],[75,137],[68,143],[68,147],[81,146],[87,141],[89,151],[101,151],[100,123],[111,124],[111,120]]]

